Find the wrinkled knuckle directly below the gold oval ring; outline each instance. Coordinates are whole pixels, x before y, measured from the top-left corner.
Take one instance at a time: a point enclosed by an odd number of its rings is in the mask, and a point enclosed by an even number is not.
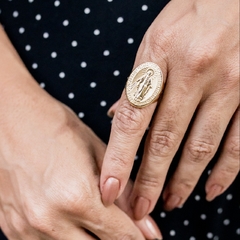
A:
[[[124,134],[131,134],[143,129],[144,116],[142,110],[135,109],[128,102],[124,101],[114,116],[114,123],[117,130]]]

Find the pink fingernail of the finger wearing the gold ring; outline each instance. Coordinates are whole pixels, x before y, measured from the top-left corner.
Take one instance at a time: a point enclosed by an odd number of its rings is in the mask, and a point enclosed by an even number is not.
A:
[[[119,180],[113,177],[108,178],[102,190],[102,201],[106,207],[113,204],[118,196],[119,190]]]

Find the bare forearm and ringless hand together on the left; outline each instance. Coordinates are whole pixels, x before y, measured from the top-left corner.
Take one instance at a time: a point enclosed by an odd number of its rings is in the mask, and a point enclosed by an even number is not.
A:
[[[35,82],[0,27],[0,228],[9,240],[161,239],[129,195],[101,201],[105,144]],[[122,209],[120,209],[122,208]]]

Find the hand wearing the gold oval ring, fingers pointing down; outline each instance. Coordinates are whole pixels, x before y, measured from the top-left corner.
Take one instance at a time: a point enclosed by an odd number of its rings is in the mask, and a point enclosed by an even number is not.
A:
[[[185,134],[179,165],[163,192],[165,208],[184,204],[221,141],[220,157],[206,183],[207,200],[233,182],[239,172],[238,5],[237,0],[172,0],[146,32],[134,68],[149,61],[158,64],[165,89],[158,105],[137,109],[123,91],[113,107],[100,181],[106,206],[121,195],[151,120],[131,195],[136,219],[154,208]]]

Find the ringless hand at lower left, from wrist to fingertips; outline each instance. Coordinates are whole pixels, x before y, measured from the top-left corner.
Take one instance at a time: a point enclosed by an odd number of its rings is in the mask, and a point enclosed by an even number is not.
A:
[[[13,134],[1,134],[3,231],[11,240],[94,239],[85,229],[101,239],[145,239],[118,207],[102,205],[98,165],[105,145],[69,109],[55,110],[23,117]],[[126,208],[126,196],[119,201]],[[157,237],[144,221],[137,224]]]

